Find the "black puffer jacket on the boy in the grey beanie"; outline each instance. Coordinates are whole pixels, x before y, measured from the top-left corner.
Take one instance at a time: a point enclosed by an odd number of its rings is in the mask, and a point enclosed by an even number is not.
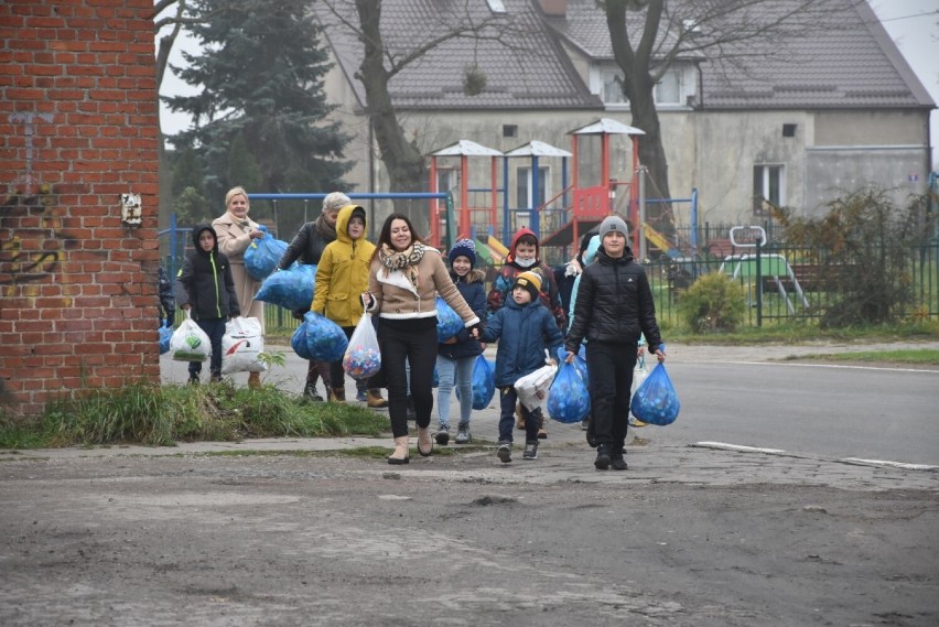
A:
[[[613,259],[601,247],[596,261],[581,275],[574,322],[564,348],[576,353],[584,338],[638,344],[640,333],[646,335],[650,349],[662,342],[646,271],[633,259],[629,248],[623,257]]]

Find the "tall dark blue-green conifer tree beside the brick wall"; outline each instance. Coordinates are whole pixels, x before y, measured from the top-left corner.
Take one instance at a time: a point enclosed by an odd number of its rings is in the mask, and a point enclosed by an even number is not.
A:
[[[202,54],[184,53],[186,68],[173,68],[201,89],[166,98],[174,111],[193,117],[194,128],[171,138],[195,145],[206,166],[204,192],[222,206],[229,180],[233,142],[244,137],[260,171],[248,192],[311,192],[345,188],[342,161],[349,138],[325,121],[323,77],[328,55],[305,0],[195,0],[191,26]]]

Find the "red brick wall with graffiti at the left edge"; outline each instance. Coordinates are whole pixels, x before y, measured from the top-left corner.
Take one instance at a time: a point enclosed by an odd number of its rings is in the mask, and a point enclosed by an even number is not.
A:
[[[160,377],[152,0],[0,1],[0,409]],[[142,220],[122,220],[140,194]]]

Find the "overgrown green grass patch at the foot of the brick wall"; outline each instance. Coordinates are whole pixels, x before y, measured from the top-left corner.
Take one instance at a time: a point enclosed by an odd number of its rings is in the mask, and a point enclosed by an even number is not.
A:
[[[85,390],[48,404],[33,419],[0,415],[0,447],[40,448],[76,444],[172,446],[179,441],[242,437],[377,436],[388,417],[369,409],[314,403],[273,386],[236,388],[134,383]]]

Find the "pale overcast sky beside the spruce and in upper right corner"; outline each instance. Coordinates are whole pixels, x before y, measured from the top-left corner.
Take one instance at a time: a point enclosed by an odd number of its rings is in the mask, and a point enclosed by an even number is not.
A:
[[[939,0],[867,0],[884,28],[897,43],[907,63],[919,80],[939,102]],[[195,52],[195,42],[184,35],[176,40],[171,64],[183,65],[181,50]],[[193,94],[192,87],[176,78],[168,68],[160,93],[166,95]],[[188,118],[160,106],[160,123],[166,134],[175,134],[188,126]],[[932,167],[939,167],[939,110],[931,116]]]

